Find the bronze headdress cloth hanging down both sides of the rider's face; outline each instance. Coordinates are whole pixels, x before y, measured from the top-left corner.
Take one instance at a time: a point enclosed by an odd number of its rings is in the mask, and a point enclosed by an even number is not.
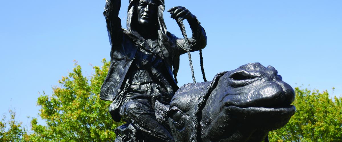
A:
[[[135,30],[134,30],[134,22],[133,20],[136,20],[133,16],[136,14],[136,3],[139,0],[129,0],[129,6],[127,11],[127,31],[126,32],[133,42],[135,42],[135,45],[138,47],[143,47],[147,45],[145,42],[145,39],[141,37]],[[167,28],[164,22],[163,18],[163,12],[165,11],[165,3],[164,0],[158,0],[160,2],[160,5],[158,6],[158,45],[161,48],[163,55],[166,57],[166,59],[172,59],[172,60],[166,60],[168,67],[173,66],[173,73],[172,69],[170,68],[170,75],[174,76],[175,83],[177,84],[177,72],[179,69],[179,53],[174,52],[175,50],[170,50],[170,48],[175,49],[175,43],[171,41],[169,36],[167,35]],[[168,48],[167,48],[168,47]],[[172,56],[169,58],[168,56]]]

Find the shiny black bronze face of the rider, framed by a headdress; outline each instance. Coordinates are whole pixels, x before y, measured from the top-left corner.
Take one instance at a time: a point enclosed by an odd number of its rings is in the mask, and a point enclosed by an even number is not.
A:
[[[137,5],[139,23],[146,26],[156,23],[158,6],[155,0],[139,0]]]

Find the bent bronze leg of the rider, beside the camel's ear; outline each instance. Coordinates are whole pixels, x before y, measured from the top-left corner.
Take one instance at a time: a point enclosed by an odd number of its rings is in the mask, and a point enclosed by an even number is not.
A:
[[[120,108],[120,115],[145,136],[150,136],[156,141],[173,141],[170,132],[157,121],[155,111],[147,99],[125,102]]]

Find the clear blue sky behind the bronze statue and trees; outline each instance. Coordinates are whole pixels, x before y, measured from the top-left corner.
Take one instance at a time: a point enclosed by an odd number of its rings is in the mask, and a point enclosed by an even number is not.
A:
[[[0,114],[15,109],[17,120],[29,125],[27,116],[38,117],[38,92],[51,95],[52,86],[72,71],[73,60],[86,76],[93,73],[90,64],[101,66],[103,58],[109,60],[104,4],[105,0],[0,1]],[[180,5],[196,15],[207,32],[203,58],[208,80],[260,62],[274,66],[292,87],[342,96],[341,0],[166,0],[166,9]],[[127,6],[128,0],[122,1],[123,27]],[[164,17],[168,31],[181,37],[170,14]],[[200,82],[198,52],[192,57]],[[179,86],[192,82],[186,54],[177,78]]]

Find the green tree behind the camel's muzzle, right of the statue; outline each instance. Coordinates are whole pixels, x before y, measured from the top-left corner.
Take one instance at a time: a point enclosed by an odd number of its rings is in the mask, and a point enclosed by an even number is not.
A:
[[[295,88],[296,113],[281,129],[269,132],[270,141],[341,142],[342,98],[327,91]]]

